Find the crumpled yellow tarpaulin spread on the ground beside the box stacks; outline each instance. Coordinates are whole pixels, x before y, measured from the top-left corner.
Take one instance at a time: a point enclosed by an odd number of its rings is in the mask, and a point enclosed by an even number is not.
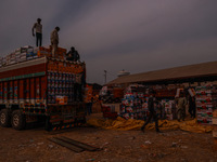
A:
[[[144,121],[135,119],[125,120],[124,118],[118,117],[116,120],[92,118],[89,119],[87,123],[95,127],[128,131],[128,130],[140,130]],[[182,130],[194,133],[208,133],[213,131],[212,125],[197,124],[196,119],[182,122],[178,122],[176,120],[173,121],[159,120],[158,125],[159,130]],[[148,124],[145,130],[155,130],[155,123],[153,122]]]

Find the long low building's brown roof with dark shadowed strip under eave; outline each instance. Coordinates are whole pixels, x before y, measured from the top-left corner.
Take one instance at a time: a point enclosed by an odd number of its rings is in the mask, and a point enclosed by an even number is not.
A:
[[[217,62],[180,66],[118,77],[107,85],[141,84],[201,84],[217,81]]]

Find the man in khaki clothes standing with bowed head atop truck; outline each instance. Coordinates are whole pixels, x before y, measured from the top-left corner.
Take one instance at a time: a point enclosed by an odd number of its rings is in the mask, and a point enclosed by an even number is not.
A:
[[[59,32],[60,27],[55,27],[55,29],[51,32],[51,46],[52,46],[52,57],[56,56],[58,44],[59,44]]]

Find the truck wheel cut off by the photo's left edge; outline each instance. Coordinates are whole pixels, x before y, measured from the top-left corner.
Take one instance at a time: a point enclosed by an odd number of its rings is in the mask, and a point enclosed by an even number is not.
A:
[[[10,116],[10,111],[7,109],[2,109],[0,111],[0,125],[3,127],[11,126],[11,116]]]

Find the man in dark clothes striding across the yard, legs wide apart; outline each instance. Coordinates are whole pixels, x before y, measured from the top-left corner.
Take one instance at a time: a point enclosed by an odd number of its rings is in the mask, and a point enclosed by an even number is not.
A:
[[[146,120],[146,122],[142,125],[141,131],[144,132],[144,129],[148,123],[150,123],[151,119],[153,118],[155,121],[155,129],[156,132],[159,133],[159,129],[158,129],[158,119],[157,119],[157,114],[156,111],[154,110],[154,103],[156,103],[155,100],[155,92],[153,90],[150,90],[150,97],[149,97],[149,102],[148,102],[148,106],[149,106],[149,118]]]

